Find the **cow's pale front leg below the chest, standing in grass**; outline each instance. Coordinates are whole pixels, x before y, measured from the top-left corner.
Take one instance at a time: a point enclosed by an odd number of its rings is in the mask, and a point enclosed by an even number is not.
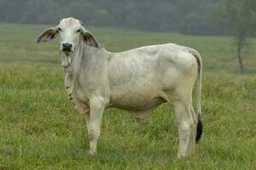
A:
[[[90,115],[87,118],[88,136],[90,140],[90,155],[96,154],[96,144],[101,133],[102,116],[105,105],[99,99],[90,101]]]

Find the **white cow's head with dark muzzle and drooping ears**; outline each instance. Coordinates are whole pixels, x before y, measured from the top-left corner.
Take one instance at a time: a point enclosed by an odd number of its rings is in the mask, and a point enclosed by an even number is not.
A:
[[[49,42],[60,35],[61,52],[71,54],[83,41],[85,44],[98,48],[95,37],[85,30],[80,20],[74,18],[62,19],[60,24],[43,31],[37,42]]]

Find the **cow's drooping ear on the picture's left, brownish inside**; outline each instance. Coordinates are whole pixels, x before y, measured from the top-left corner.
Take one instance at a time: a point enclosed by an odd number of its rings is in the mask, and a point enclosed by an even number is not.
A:
[[[59,34],[59,31],[56,27],[51,27],[44,30],[37,39],[37,42],[49,42],[54,40],[55,37]]]

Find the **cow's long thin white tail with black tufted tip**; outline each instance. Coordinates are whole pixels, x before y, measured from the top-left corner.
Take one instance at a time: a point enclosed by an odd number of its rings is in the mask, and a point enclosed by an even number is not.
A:
[[[199,54],[195,49],[189,48],[189,53],[195,56],[198,65],[198,78],[197,78],[197,116],[198,122],[196,127],[196,137],[195,142],[197,143],[201,139],[202,134],[202,122],[201,122],[201,81],[202,81],[202,59],[201,54]]]

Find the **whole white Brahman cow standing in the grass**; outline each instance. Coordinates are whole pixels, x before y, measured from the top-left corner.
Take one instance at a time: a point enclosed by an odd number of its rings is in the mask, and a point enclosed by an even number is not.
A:
[[[105,109],[120,108],[143,118],[165,102],[175,110],[177,156],[193,153],[202,133],[202,61],[195,49],[167,43],[111,53],[73,18],[43,31],[37,42],[48,42],[57,35],[65,88],[75,108],[86,116],[91,155],[96,154]],[[196,79],[197,116],[192,106]]]

